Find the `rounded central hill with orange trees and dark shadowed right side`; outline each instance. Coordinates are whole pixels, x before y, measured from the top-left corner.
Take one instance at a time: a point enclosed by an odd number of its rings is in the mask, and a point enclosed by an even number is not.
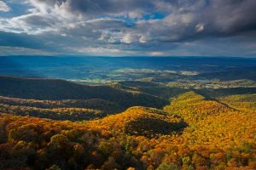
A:
[[[178,116],[165,111],[135,106],[123,113],[107,116],[101,120],[88,122],[91,129],[99,131],[126,133],[149,138],[163,134],[179,133],[186,123]]]

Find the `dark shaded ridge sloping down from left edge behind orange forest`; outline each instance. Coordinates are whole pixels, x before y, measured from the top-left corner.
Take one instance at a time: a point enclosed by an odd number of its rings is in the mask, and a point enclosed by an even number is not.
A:
[[[105,99],[127,108],[143,105],[160,108],[165,99],[111,86],[90,86],[61,79],[0,76],[0,95],[20,99]]]

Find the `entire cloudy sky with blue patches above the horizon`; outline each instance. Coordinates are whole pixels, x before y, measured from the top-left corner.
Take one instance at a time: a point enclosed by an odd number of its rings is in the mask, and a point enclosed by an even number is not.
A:
[[[0,0],[0,55],[256,57],[256,0]]]

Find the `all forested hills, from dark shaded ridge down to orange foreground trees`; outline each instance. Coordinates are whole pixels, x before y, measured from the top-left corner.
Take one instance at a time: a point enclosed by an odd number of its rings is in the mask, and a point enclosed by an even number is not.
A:
[[[0,82],[0,169],[256,169],[255,88]]]

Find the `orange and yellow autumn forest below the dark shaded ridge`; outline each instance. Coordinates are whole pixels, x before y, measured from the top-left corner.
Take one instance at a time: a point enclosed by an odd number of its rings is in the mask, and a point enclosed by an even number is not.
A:
[[[86,100],[1,97],[0,169],[256,169],[254,95],[189,91],[114,115]]]

